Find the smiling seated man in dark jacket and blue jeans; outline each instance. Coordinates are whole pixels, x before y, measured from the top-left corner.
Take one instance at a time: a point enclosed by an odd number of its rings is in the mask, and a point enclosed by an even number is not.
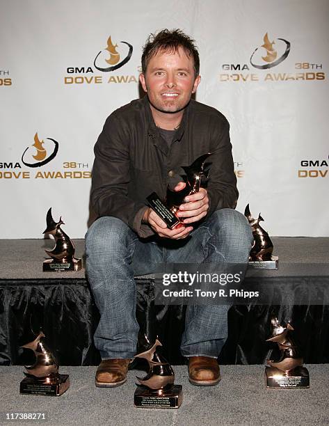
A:
[[[96,386],[125,383],[136,354],[134,276],[156,264],[246,263],[252,232],[234,210],[238,191],[229,124],[214,108],[191,99],[200,83],[194,40],[182,31],[151,35],[143,49],[141,85],[146,96],[111,113],[95,145],[91,199],[99,219],[86,235],[88,280],[100,312],[95,345],[102,356]],[[153,191],[165,198],[179,166],[211,152],[207,189],[179,207],[181,226],[169,229],[147,207]],[[184,187],[178,182],[175,190]],[[217,357],[227,338],[225,305],[186,309],[181,352],[189,380],[220,380]]]

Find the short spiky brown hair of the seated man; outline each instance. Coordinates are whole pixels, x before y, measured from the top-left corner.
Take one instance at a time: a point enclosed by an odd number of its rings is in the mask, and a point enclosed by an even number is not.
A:
[[[198,49],[195,46],[195,40],[186,36],[180,29],[173,29],[171,31],[163,29],[158,33],[150,34],[143,47],[143,74],[145,74],[147,65],[152,56],[161,50],[163,52],[177,52],[179,47],[182,47],[185,53],[193,58],[195,77],[198,77],[200,71],[200,58]]]

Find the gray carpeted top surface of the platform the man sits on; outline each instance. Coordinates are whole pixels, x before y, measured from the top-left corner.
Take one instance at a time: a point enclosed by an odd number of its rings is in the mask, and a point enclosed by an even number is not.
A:
[[[303,276],[329,274],[329,238],[273,238],[274,255],[279,256],[278,271],[257,272],[265,276]],[[76,257],[83,257],[84,240],[74,239]],[[53,248],[53,239],[0,239],[0,279],[84,278],[77,272],[42,272],[47,258],[45,248]]]

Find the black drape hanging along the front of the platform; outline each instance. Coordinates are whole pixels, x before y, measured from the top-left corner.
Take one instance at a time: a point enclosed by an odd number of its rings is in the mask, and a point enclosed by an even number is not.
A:
[[[138,280],[136,316],[144,334],[159,336],[172,364],[184,363],[179,343],[184,331],[184,306],[154,306],[152,281]],[[291,320],[303,345],[306,363],[329,362],[329,306],[241,305],[229,311],[229,336],[220,363],[261,364],[273,345],[270,319]],[[97,365],[93,333],[99,313],[84,279],[0,281],[0,365],[33,362],[20,345],[33,339],[31,328],[45,333],[60,365]]]

